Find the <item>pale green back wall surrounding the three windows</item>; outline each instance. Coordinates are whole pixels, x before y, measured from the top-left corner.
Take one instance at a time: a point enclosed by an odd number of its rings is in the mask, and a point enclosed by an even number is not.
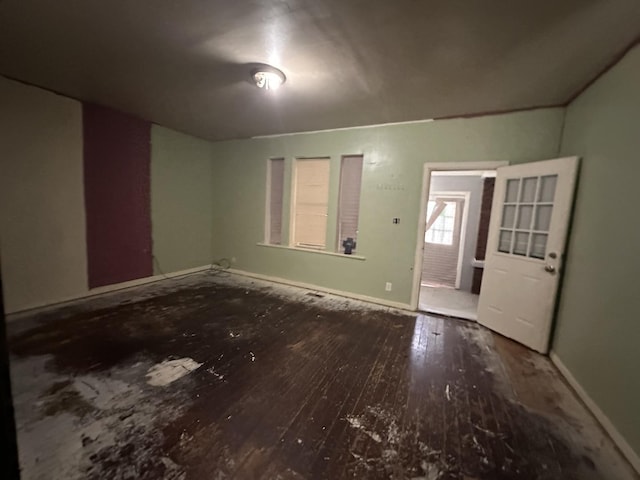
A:
[[[424,163],[509,161],[557,155],[564,110],[218,142],[212,145],[213,256],[235,268],[408,304],[411,297]],[[330,245],[335,243],[340,158],[364,154],[358,255],[330,256],[259,246],[264,240],[267,159],[330,156]],[[289,221],[285,188],[284,223]],[[400,223],[394,225],[393,217]],[[288,238],[285,228],[284,239]],[[393,290],[386,292],[386,282]]]

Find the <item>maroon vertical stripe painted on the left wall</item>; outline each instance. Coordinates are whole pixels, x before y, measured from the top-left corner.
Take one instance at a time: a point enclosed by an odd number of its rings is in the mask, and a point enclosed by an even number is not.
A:
[[[151,276],[151,123],[82,107],[89,288]]]

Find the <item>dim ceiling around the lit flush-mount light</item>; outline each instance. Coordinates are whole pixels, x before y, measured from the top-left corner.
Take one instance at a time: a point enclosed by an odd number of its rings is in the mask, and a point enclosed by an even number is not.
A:
[[[220,140],[563,104],[639,35],[639,0],[0,0],[0,74]]]

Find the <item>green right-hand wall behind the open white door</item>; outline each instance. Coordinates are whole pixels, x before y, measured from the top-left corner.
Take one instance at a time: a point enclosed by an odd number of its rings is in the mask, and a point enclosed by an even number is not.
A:
[[[640,455],[640,47],[567,109],[582,157],[553,349]]]

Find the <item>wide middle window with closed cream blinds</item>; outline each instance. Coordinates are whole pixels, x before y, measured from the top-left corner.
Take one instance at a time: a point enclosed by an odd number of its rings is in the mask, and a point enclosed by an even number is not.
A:
[[[329,163],[328,158],[295,161],[291,228],[294,247],[326,247]]]

